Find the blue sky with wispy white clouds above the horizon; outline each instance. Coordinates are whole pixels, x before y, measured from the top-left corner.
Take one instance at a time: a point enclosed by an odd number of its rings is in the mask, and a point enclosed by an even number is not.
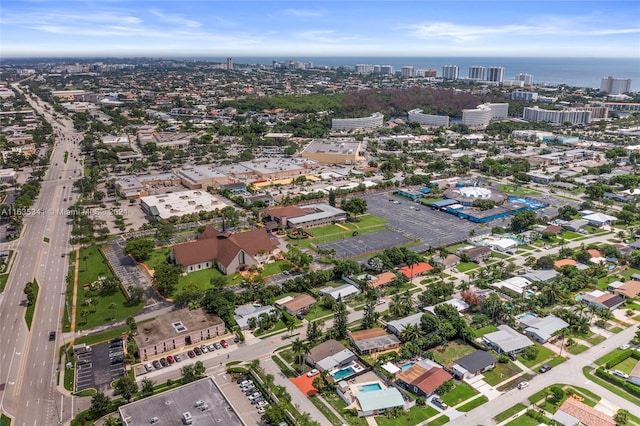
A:
[[[2,0],[0,57],[640,57],[640,2]]]

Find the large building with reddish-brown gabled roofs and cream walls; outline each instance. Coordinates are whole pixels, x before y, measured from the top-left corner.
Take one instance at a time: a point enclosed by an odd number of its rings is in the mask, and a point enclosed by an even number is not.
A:
[[[277,246],[264,228],[252,231],[220,232],[204,230],[197,240],[178,244],[171,250],[171,260],[183,273],[217,267],[225,275],[264,262]]]

